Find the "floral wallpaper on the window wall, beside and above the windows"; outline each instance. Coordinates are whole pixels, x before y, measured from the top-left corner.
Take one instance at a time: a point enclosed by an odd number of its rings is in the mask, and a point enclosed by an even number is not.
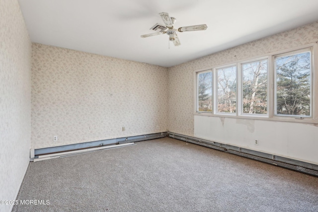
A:
[[[317,41],[314,22],[169,68],[169,131],[194,136],[194,71]]]

